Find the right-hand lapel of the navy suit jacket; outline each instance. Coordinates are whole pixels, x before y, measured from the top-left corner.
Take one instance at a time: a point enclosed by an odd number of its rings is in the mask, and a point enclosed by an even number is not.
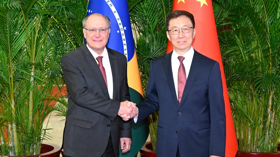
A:
[[[182,99],[180,102],[180,105],[184,102],[187,94],[189,93],[190,87],[192,87],[192,84],[194,83],[194,79],[196,78],[196,75],[201,67],[201,62],[199,62],[199,59],[201,58],[201,56],[199,55],[199,53],[197,51],[194,50],[194,57],[193,57],[193,61],[189,70],[189,76],[187,78],[187,82],[186,85],[184,87],[184,92],[182,95]]]

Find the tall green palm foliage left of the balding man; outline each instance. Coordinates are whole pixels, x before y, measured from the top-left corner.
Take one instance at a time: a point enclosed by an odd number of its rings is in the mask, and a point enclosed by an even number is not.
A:
[[[84,16],[84,3],[1,1],[0,155],[40,154],[50,137],[43,122],[54,110],[53,85],[62,82],[60,56],[82,43],[73,19]]]

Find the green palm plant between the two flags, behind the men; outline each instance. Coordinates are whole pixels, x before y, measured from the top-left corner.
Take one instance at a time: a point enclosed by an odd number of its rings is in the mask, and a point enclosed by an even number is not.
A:
[[[165,19],[167,14],[172,11],[172,5],[173,0],[128,0],[144,95],[151,60],[166,54],[168,39],[166,38]],[[150,137],[153,150],[156,150],[158,112],[151,114],[149,119]]]

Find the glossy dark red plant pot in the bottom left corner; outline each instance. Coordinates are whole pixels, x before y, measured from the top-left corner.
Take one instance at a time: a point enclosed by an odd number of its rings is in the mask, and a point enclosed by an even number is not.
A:
[[[53,143],[42,143],[41,152],[39,155],[30,155],[24,157],[59,157],[59,155],[60,155],[60,146]],[[0,157],[8,157],[8,156],[0,155]]]

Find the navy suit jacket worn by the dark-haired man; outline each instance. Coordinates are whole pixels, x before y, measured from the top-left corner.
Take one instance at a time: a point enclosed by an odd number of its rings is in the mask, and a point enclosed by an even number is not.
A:
[[[220,66],[194,51],[178,103],[171,54],[151,61],[147,97],[137,105],[138,121],[159,110],[157,157],[225,156],[226,116]]]

